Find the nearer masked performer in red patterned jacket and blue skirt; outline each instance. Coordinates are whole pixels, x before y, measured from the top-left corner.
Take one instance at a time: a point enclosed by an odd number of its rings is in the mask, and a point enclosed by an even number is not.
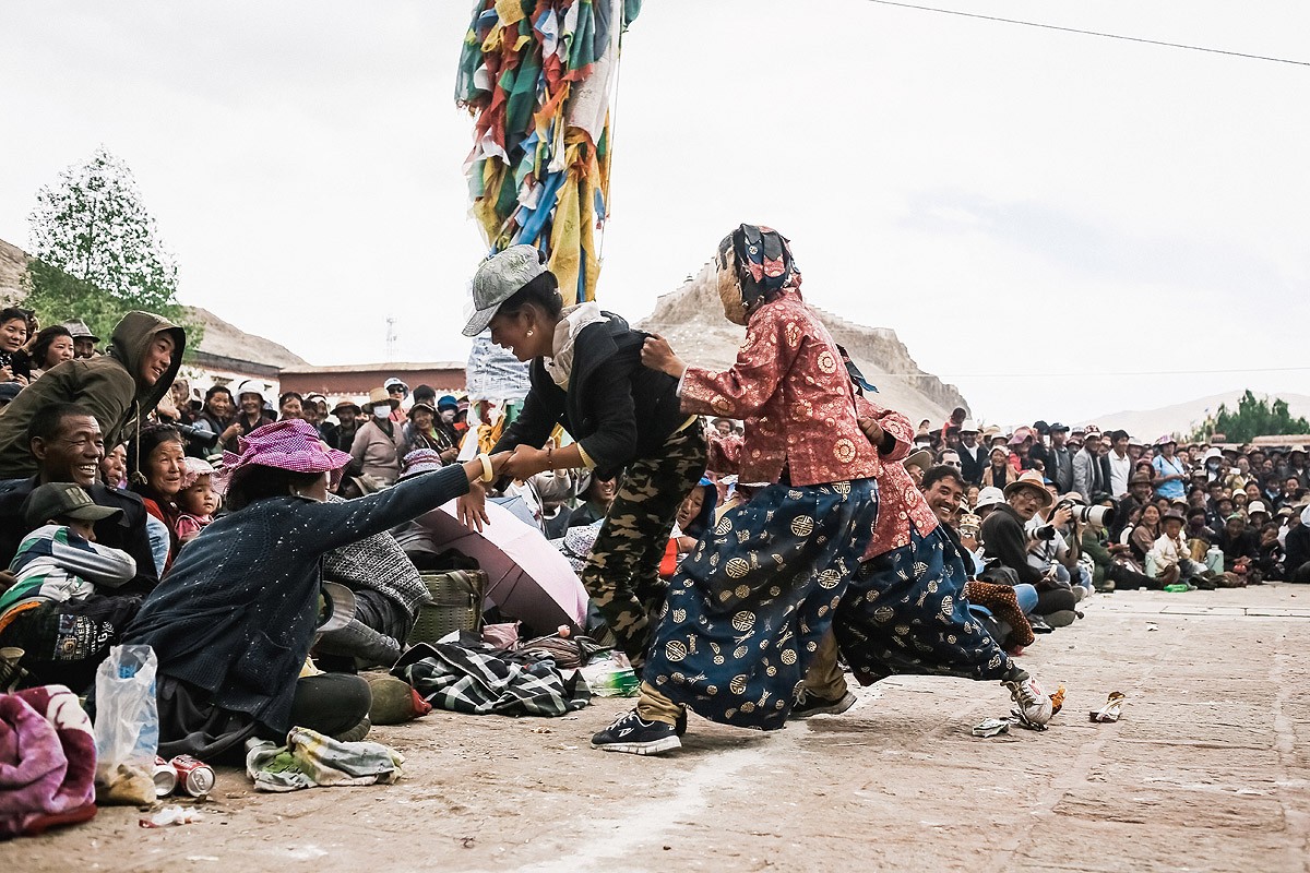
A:
[[[686,366],[662,338],[642,363],[677,377],[684,414],[744,420],[711,466],[749,499],[706,531],[669,581],[637,708],[592,737],[607,751],[681,742],[685,708],[744,728],[785,725],[874,533],[883,461],[859,429],[841,353],[800,297],[787,241],[741,225],[718,253],[719,296],[747,326],[724,372]]]

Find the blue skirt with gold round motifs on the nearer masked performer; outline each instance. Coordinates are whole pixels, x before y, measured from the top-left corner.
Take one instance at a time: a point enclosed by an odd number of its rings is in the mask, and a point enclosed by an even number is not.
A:
[[[726,512],[669,582],[645,681],[706,719],[781,728],[876,517],[872,479],[768,486]]]

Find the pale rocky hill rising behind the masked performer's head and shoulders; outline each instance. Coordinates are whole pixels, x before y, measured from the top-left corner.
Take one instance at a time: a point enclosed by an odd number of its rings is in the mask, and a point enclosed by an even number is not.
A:
[[[921,419],[942,421],[956,406],[968,408],[959,389],[918,368],[896,331],[863,327],[821,310],[820,317],[865,377],[878,386],[874,398],[878,403],[904,412],[916,424]],[[709,264],[681,288],[660,297],[655,312],[638,326],[665,336],[683,360],[705,366],[728,366],[736,360],[744,335],[741,327],[723,317]]]

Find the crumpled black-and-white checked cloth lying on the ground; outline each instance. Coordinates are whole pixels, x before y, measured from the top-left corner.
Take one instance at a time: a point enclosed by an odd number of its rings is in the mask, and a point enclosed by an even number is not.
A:
[[[565,675],[549,662],[520,664],[491,647],[422,643],[392,669],[440,709],[502,716],[562,716],[591,703],[579,673]]]

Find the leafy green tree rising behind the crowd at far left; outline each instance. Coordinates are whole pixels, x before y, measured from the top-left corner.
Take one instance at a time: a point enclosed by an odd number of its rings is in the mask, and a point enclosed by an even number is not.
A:
[[[103,147],[37,192],[29,223],[26,305],[42,325],[80,318],[107,338],[126,313],[140,309],[185,326],[190,348],[199,343],[198,326],[177,301],[177,264],[136,179]]]

